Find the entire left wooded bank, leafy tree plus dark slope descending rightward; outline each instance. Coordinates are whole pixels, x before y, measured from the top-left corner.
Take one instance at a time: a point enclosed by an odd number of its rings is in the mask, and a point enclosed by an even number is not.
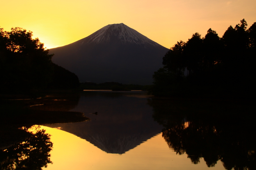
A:
[[[32,32],[16,27],[0,28],[0,88],[2,92],[25,92],[49,88],[76,88],[74,73],[52,63],[53,54]]]

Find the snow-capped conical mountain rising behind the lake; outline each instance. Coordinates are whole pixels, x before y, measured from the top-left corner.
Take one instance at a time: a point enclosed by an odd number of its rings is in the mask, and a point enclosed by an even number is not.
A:
[[[150,85],[168,48],[121,24],[104,26],[79,41],[50,49],[52,62],[80,82]]]

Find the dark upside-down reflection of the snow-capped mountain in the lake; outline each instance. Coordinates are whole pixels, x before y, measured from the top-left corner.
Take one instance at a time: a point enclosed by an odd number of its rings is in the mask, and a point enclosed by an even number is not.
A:
[[[71,111],[87,113],[85,116],[91,118],[91,122],[45,126],[61,127],[102,151],[123,154],[163,129],[153,121],[152,107],[145,101],[145,92],[84,92]],[[97,115],[89,114],[95,112]]]

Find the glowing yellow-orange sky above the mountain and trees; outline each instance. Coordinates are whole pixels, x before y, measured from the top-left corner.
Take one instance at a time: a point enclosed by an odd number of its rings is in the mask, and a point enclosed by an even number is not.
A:
[[[124,23],[170,48],[196,32],[204,37],[209,28],[222,37],[243,18],[247,28],[256,22],[255,0],[3,0],[0,27],[30,30],[54,48]]]

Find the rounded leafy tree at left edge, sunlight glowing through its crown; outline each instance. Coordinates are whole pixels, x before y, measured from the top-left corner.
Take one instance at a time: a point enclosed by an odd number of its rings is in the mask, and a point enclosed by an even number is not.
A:
[[[51,58],[44,44],[33,39],[31,31],[15,27],[0,29],[1,86],[4,88],[42,88],[51,79]]]

